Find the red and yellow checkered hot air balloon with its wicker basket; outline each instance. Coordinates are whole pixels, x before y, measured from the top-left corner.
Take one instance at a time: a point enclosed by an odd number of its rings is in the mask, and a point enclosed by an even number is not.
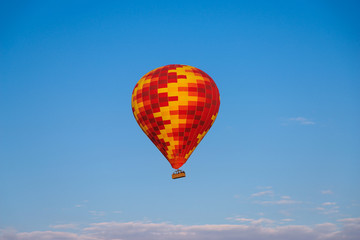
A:
[[[156,68],[136,84],[132,111],[144,133],[185,177],[185,164],[213,125],[220,106],[215,82],[202,70],[179,64]]]

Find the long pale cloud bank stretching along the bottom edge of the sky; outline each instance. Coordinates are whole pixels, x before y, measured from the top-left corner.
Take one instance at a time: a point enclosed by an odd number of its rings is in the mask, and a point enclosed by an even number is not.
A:
[[[0,230],[0,240],[358,240],[360,219],[341,219],[338,229],[331,223],[314,227],[288,225],[174,225],[168,223],[103,222],[90,224],[79,233]]]

